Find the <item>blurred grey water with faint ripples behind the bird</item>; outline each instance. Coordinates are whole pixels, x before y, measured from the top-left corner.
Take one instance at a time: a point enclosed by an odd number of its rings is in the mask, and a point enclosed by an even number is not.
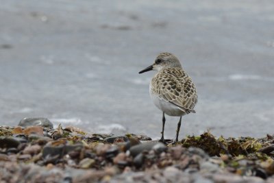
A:
[[[274,3],[0,0],[0,121],[47,117],[86,132],[160,138],[149,97],[158,53],[196,83],[180,138],[265,136],[274,129]],[[179,117],[166,117],[174,138]]]

